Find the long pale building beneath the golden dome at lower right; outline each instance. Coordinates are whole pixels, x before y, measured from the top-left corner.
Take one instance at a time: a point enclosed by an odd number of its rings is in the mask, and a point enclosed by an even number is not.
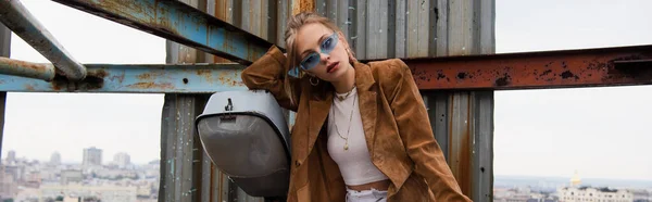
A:
[[[605,201],[634,202],[634,194],[628,190],[592,187],[564,187],[557,191],[560,201]]]

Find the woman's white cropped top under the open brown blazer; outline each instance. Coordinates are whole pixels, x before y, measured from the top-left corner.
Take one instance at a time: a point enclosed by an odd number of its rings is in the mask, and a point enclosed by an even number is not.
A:
[[[337,97],[343,96],[346,93],[337,94]],[[342,101],[337,97],[334,98],[328,112],[328,153],[338,164],[344,184],[356,186],[388,179],[372,163],[358,106],[356,89],[353,88]]]

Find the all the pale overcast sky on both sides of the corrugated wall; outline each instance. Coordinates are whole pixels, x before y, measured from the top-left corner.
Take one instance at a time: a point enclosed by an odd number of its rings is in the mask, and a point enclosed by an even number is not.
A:
[[[165,41],[50,1],[27,9],[82,63],[164,63]],[[652,45],[652,1],[496,0],[496,50]],[[12,59],[48,62],[15,35]],[[652,86],[496,92],[494,174],[652,180]],[[162,94],[13,93],[2,155],[78,162],[83,148],[160,155]]]

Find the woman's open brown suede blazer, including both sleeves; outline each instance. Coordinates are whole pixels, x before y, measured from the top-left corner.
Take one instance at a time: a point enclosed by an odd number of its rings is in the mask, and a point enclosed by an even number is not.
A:
[[[298,79],[292,86],[300,94],[299,100],[291,104],[284,91],[285,65],[286,56],[272,47],[242,72],[242,80],[249,89],[268,90],[283,108],[297,112],[291,132],[288,201],[343,202],[346,185],[328,155],[324,127],[333,91],[313,87],[308,78]],[[434,138],[408,65],[393,59],[368,64],[355,62],[353,66],[372,162],[391,180],[388,201],[471,201],[462,194]]]

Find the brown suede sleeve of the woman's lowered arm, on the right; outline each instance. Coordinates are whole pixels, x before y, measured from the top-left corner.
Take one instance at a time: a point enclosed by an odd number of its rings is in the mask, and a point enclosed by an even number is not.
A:
[[[398,83],[394,83],[390,106],[403,144],[415,164],[415,173],[426,179],[437,201],[471,201],[462,193],[435,140],[428,113],[412,72],[401,60],[393,60],[391,64],[400,75]]]

